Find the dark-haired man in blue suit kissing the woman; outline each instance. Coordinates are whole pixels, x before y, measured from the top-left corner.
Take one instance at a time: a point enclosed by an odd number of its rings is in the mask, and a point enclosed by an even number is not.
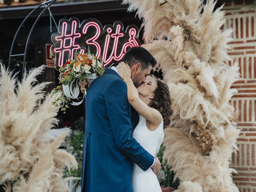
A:
[[[130,48],[123,62],[132,70],[136,87],[145,81],[155,58],[144,48]],[[132,192],[132,166],[158,174],[161,164],[132,137],[138,113],[127,99],[126,83],[115,67],[106,68],[86,95],[86,128],[82,162],[82,192]]]

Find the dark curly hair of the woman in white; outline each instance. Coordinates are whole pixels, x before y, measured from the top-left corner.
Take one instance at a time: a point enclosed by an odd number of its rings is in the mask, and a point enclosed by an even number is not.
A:
[[[154,98],[150,107],[158,110],[164,119],[164,129],[170,125],[170,116],[172,115],[170,92],[168,86],[160,80],[157,80],[157,88],[154,91]]]

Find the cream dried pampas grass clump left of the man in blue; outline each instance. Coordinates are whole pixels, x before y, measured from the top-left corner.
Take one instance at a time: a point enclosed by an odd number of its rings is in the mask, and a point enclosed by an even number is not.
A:
[[[78,165],[58,149],[71,130],[52,129],[59,107],[43,91],[49,83],[37,83],[44,66],[25,72],[22,82],[2,64],[0,69],[0,184],[6,192],[68,191],[63,169]]]

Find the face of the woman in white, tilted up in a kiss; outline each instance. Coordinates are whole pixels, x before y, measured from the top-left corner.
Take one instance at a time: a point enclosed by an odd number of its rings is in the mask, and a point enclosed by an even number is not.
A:
[[[145,84],[140,85],[137,90],[140,96],[146,104],[150,104],[150,101],[154,98],[154,92],[157,88],[156,81],[149,81]]]

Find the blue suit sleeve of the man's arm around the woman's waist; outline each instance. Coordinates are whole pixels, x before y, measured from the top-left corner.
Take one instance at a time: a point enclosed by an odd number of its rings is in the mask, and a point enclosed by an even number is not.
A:
[[[105,100],[116,145],[142,170],[147,170],[154,157],[132,137],[126,83],[121,79],[114,80],[106,90]]]

